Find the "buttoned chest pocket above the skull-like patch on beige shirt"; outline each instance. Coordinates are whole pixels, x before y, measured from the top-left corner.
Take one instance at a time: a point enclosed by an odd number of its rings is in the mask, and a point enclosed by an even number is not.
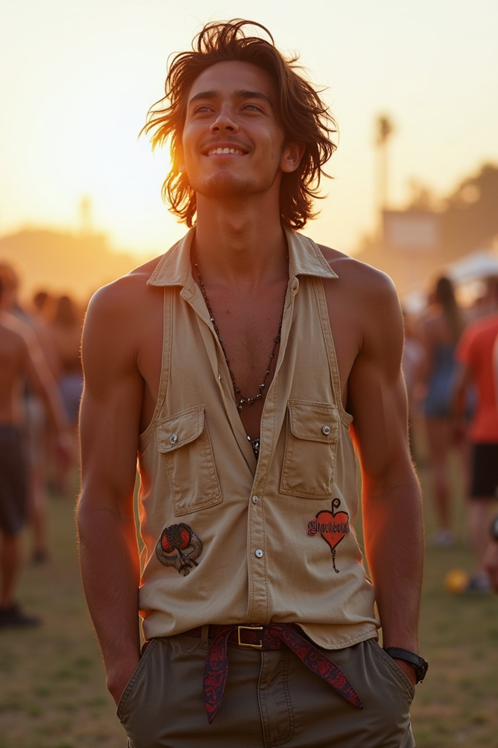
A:
[[[222,501],[204,410],[196,405],[158,421],[158,450],[164,454],[177,517]]]

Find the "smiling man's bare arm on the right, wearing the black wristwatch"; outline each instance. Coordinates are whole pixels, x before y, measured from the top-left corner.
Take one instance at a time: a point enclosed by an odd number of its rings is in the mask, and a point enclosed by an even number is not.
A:
[[[376,277],[365,304],[363,343],[349,378],[363,479],[365,550],[383,645],[417,652],[423,521],[408,447],[402,318],[396,292],[382,276]],[[414,682],[411,666],[398,662]]]

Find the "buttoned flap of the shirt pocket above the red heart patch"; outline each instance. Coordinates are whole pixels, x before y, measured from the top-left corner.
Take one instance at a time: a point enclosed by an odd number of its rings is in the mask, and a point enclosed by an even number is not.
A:
[[[333,444],[339,438],[339,411],[329,402],[289,400],[290,431],[299,439]]]

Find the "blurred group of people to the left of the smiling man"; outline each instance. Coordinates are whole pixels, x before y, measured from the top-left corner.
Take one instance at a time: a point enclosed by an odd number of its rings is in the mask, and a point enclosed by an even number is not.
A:
[[[69,295],[19,301],[19,278],[0,263],[0,628],[36,625],[16,602],[21,530],[30,562],[49,560],[49,492],[75,498],[84,308]]]

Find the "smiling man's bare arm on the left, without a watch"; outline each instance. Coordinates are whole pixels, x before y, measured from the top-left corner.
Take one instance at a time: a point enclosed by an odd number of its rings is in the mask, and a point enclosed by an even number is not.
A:
[[[101,289],[90,302],[82,344],[81,575],[116,702],[140,659],[133,498],[143,380],[127,300],[116,284]]]

